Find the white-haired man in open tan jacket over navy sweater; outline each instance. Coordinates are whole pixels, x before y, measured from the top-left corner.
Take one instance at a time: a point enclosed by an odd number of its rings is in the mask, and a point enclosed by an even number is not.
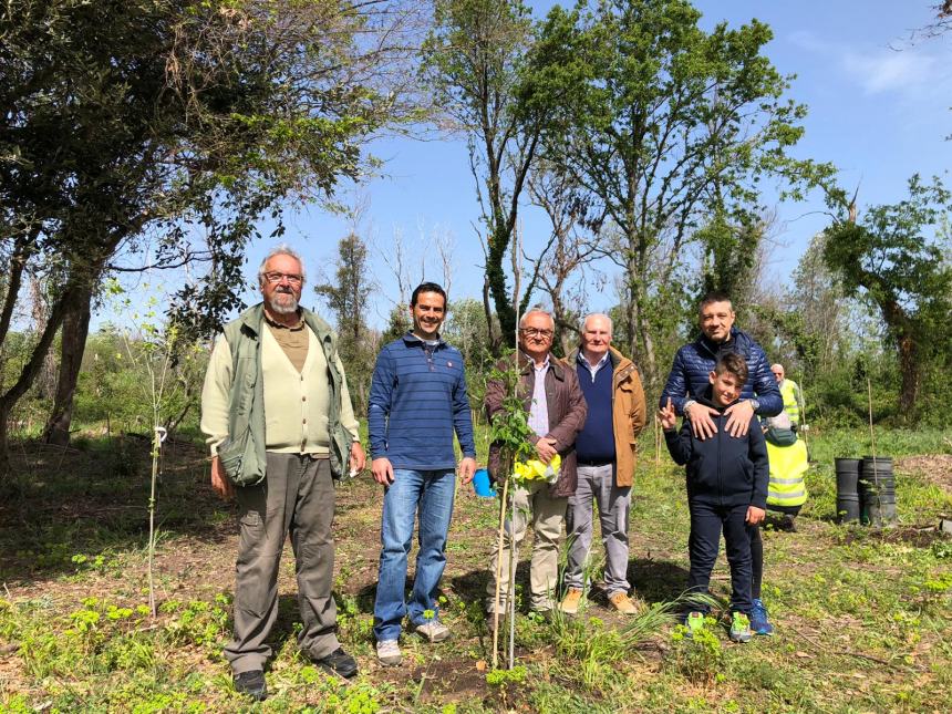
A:
[[[638,435],[645,423],[644,391],[634,363],[611,346],[611,319],[590,314],[582,323],[581,349],[569,355],[588,405],[576,438],[578,487],[569,497],[566,531],[569,555],[560,609],[578,612],[592,541],[592,500],[598,504],[606,550],[604,590],[624,614],[638,608],[629,598],[628,518]]]

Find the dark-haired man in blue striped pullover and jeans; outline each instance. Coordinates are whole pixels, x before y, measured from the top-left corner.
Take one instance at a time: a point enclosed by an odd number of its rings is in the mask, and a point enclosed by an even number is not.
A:
[[[389,665],[401,662],[399,638],[407,612],[416,632],[431,642],[449,637],[438,619],[436,591],[453,515],[454,433],[463,452],[464,484],[476,469],[463,355],[439,339],[446,292],[435,282],[422,283],[413,291],[410,311],[413,330],[377,355],[368,408],[371,470],[384,487],[373,631],[377,659]],[[417,515],[420,552],[407,606],[406,560]]]

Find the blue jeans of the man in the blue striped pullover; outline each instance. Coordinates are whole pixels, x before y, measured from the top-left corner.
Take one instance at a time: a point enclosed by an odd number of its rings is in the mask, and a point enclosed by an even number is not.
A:
[[[376,601],[373,606],[373,633],[377,642],[396,640],[401,623],[410,612],[413,624],[423,624],[426,610],[436,619],[436,589],[446,567],[446,535],[453,516],[456,488],[455,470],[393,469],[393,484],[383,496],[383,520],[380,529],[380,570]],[[416,576],[407,607],[406,556],[413,539],[413,524],[420,517],[420,551]]]

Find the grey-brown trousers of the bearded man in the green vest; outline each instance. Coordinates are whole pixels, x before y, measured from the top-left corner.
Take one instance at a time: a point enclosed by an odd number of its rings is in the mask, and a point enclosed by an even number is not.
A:
[[[266,640],[278,618],[278,567],[291,534],[303,629],[298,646],[319,659],[340,646],[334,575],[334,485],[327,458],[268,453],[267,478],[236,488],[240,540],[235,563],[235,639],[225,658],[235,674],[260,670],[271,656]]]

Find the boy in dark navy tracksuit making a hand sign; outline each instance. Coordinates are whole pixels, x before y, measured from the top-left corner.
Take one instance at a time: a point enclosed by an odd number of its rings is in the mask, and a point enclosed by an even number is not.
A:
[[[689,551],[690,592],[707,592],[711,571],[717,559],[721,531],[731,565],[731,639],[751,640],[751,539],[748,529],[764,519],[767,507],[769,466],[767,446],[757,417],[744,436],[731,436],[724,410],[741,396],[747,381],[747,364],[737,354],[726,354],[711,372],[711,386],[697,401],[717,411],[713,437],[699,439],[687,420],[675,431],[674,406],[659,410],[664,439],[671,457],[687,466],[687,506],[691,510]],[[694,613],[692,613],[693,615]],[[689,627],[695,617],[689,615]]]

